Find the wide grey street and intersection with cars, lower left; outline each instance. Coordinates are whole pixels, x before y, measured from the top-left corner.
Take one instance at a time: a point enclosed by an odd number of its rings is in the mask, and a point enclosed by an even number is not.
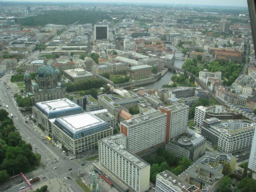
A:
[[[35,125],[30,126],[30,122],[25,122],[27,119],[23,117],[22,113],[18,110],[18,106],[16,106],[15,99],[13,98],[13,94],[16,93],[17,90],[17,85],[10,82],[10,77],[11,74],[6,74],[0,79],[0,100],[2,106],[9,114],[13,114],[14,124],[19,130],[23,140],[31,144],[34,153],[42,155],[41,165],[37,167],[37,170],[26,173],[25,176],[28,180],[34,177],[40,178],[39,182],[33,184],[35,187],[41,182],[45,182],[45,180],[51,182],[52,180],[58,179],[60,182],[64,181],[69,188],[72,188],[74,191],[82,192],[83,190],[76,184],[75,180],[79,178],[79,175],[84,175],[86,182],[91,184],[90,173],[93,169],[93,161],[86,161],[81,155],[79,155],[80,158],[69,160],[70,157],[63,153],[61,149],[43,140],[41,137],[42,133],[39,133],[41,130],[38,127],[35,127]],[[4,81],[6,85],[3,83]],[[8,109],[6,105],[8,105]],[[38,131],[35,131],[35,129],[38,129]],[[84,166],[82,166],[83,163],[85,163]],[[54,169],[54,167],[57,168]],[[68,170],[70,168],[72,168],[72,170]],[[42,176],[46,176],[46,178],[42,178]],[[64,177],[67,176],[71,177],[71,180],[64,180]],[[23,182],[19,184],[20,181]],[[8,191],[10,192],[17,192],[20,190],[20,187],[28,187],[21,176],[1,185],[0,191],[7,191],[7,189],[3,189],[7,185],[9,186]],[[99,187],[101,191],[113,191],[112,189],[110,190],[110,187],[105,182],[100,182]]]

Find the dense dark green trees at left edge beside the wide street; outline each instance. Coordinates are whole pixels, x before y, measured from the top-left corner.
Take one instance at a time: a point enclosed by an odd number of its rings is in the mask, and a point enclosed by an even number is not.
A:
[[[1,113],[4,120],[0,124],[0,182],[4,182],[13,173],[29,171],[41,161],[41,157],[37,157],[31,145],[22,140],[6,113],[0,110]]]

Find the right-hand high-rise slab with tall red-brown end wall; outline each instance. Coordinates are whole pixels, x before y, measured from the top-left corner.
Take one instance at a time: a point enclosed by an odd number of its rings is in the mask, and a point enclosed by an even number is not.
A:
[[[161,107],[160,111],[167,114],[166,138],[167,144],[172,138],[187,131],[188,109],[184,104],[177,104],[168,107]]]

